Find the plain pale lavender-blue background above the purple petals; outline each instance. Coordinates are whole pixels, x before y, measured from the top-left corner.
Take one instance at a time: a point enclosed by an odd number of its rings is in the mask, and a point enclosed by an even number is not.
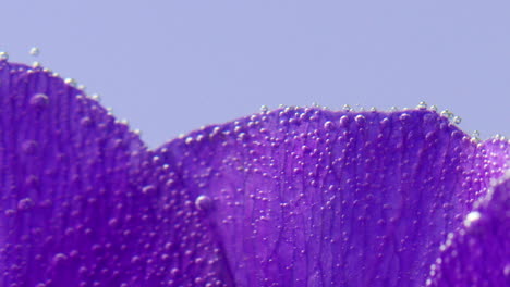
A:
[[[0,50],[100,93],[150,147],[312,102],[424,100],[487,138],[510,136],[509,13],[466,0],[3,1]]]

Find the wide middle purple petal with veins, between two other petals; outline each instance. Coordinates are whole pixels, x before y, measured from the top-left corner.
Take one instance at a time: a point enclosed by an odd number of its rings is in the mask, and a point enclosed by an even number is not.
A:
[[[508,167],[422,110],[288,108],[158,152],[207,198],[236,286],[423,286],[447,234]]]

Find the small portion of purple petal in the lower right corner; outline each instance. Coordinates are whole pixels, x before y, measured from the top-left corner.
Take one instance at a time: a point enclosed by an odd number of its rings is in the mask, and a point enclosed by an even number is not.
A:
[[[510,286],[510,172],[440,249],[427,286]]]

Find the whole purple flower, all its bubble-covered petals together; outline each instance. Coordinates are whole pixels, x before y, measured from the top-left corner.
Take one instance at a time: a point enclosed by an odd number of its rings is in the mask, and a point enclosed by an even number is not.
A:
[[[0,61],[0,286],[509,286],[509,159],[427,110],[286,108],[149,150]]]

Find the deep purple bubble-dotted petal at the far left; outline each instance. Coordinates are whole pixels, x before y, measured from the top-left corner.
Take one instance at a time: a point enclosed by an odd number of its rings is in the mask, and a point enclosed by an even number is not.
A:
[[[0,286],[228,283],[195,199],[82,91],[0,61]]]

